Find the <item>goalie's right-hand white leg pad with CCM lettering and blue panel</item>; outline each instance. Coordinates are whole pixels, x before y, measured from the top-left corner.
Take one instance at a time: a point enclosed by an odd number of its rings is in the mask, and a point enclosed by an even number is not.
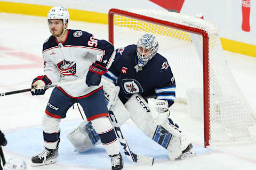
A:
[[[182,151],[191,143],[186,135],[178,129],[178,125],[174,124],[172,120],[165,118],[162,124],[155,124],[153,115],[157,114],[152,113],[155,112],[155,109],[151,109],[146,100],[139,94],[134,94],[126,102],[125,107],[138,128],[150,139],[153,139],[169,151],[170,160],[179,158]]]

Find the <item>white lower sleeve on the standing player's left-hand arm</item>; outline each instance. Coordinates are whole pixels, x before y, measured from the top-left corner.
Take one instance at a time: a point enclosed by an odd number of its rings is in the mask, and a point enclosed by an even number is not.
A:
[[[45,75],[52,81],[52,83],[57,83],[60,81],[61,74],[59,73],[57,66],[52,62],[52,60],[43,55],[44,57],[44,72]]]

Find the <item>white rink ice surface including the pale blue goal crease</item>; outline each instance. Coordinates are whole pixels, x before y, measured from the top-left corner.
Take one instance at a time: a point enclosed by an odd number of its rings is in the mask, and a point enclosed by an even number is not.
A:
[[[108,39],[107,25],[70,21],[69,28],[93,33],[98,39]],[[0,13],[0,32],[0,93],[30,88],[31,81],[43,74],[42,45],[50,36],[46,18]],[[136,41],[126,41],[124,38],[122,45],[131,43]],[[238,86],[256,111],[256,58],[225,53]],[[78,154],[67,140],[66,134],[82,122],[76,106],[69,109],[67,117],[60,124],[58,162],[39,167],[30,166],[31,157],[43,150],[41,117],[45,114],[51,90],[47,90],[43,96],[31,96],[30,92],[24,92],[0,97],[0,129],[5,133],[8,142],[3,147],[5,158],[22,158],[26,160],[28,169],[110,169],[110,158],[102,145]],[[167,151],[143,135],[129,120],[122,126],[122,130],[131,150],[136,154],[154,157],[155,163],[153,166],[132,163],[122,154],[124,169],[256,168],[256,143],[204,148],[203,122],[189,118],[186,113],[173,116],[179,126],[189,134],[197,156],[171,162]]]

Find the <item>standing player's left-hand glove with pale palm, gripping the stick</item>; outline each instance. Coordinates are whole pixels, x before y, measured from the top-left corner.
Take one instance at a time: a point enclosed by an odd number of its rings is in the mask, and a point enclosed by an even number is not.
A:
[[[44,95],[45,89],[44,86],[52,84],[52,81],[47,78],[46,75],[39,75],[36,77],[31,84],[31,94],[34,95]]]

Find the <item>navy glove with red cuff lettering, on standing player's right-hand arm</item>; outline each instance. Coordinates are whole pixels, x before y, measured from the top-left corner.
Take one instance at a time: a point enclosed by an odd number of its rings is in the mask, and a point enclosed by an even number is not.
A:
[[[92,63],[86,75],[86,84],[90,86],[98,86],[100,84],[102,74],[107,73],[107,69],[100,64]]]

